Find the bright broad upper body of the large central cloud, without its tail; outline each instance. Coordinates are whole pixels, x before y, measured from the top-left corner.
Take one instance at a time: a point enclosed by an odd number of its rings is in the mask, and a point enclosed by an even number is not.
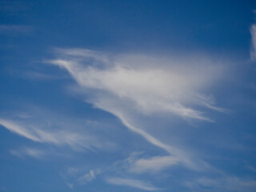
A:
[[[79,50],[79,54],[82,50]],[[66,51],[64,52],[66,54]],[[85,54],[86,55],[86,54]],[[96,62],[100,59],[94,56]],[[90,56],[91,58],[92,56]],[[85,58],[84,58],[85,59]],[[213,100],[197,90],[212,81],[214,75],[220,73],[213,66],[198,65],[196,70],[186,69],[189,65],[178,67],[161,64],[156,60],[156,66],[144,66],[152,58],[131,58],[133,66],[126,63],[127,58],[119,58],[118,61],[105,66],[82,66],[76,59],[58,59],[51,63],[64,67],[70,72],[80,86],[86,89],[102,91],[103,94],[111,94],[112,98],[131,102],[134,110],[142,114],[170,113],[183,118],[195,118],[210,121],[210,118],[190,106],[205,106],[212,110],[222,110],[214,106]],[[86,59],[85,59],[86,60]],[[142,64],[140,63],[142,62]],[[170,61],[170,63],[173,61]],[[94,63],[94,61],[93,61]],[[101,63],[102,64],[102,63]],[[136,66],[135,66],[136,65]],[[166,66],[163,66],[166,65]]]

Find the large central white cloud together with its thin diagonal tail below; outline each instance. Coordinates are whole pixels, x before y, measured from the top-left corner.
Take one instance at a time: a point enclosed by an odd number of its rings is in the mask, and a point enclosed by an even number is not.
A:
[[[158,58],[133,54],[107,57],[93,50],[78,49],[59,49],[57,55],[57,59],[48,62],[72,75],[86,92],[86,102],[114,114],[129,130],[170,154],[138,160],[138,164],[147,163],[145,171],[154,170],[149,166],[166,159],[172,163],[166,162],[165,166],[182,162],[198,169],[200,163],[194,162],[187,152],[165,144],[149,134],[146,127],[138,128],[135,122],[139,121],[139,115],[152,118],[156,114],[211,121],[198,107],[225,112],[215,106],[211,94],[202,94],[222,76],[223,67],[218,62],[206,57]],[[206,166],[205,162],[202,164]]]

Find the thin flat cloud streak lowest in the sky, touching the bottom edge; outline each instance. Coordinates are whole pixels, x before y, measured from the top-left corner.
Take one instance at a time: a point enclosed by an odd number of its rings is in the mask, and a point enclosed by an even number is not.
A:
[[[130,178],[106,178],[106,182],[117,185],[117,186],[130,186],[133,188],[138,188],[141,190],[161,190],[158,187],[152,186],[149,182],[142,182],[141,180],[137,179],[130,179]]]

